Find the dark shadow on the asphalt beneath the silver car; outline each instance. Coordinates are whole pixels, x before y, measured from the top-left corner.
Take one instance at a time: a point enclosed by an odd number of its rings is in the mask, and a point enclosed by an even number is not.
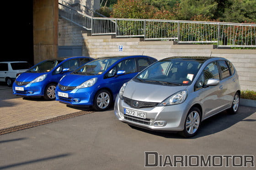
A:
[[[177,134],[176,132],[157,132],[157,131],[151,131],[148,129],[142,129],[142,128],[134,127],[134,126],[131,126],[131,127],[133,129],[138,129],[145,133],[154,134],[154,135],[162,136],[165,138],[197,139],[197,138],[201,138],[204,136],[208,136],[211,134],[221,132],[221,131],[233,126],[234,124],[237,124],[238,122],[256,121],[256,119],[246,119],[247,117],[251,116],[253,113],[256,113],[256,108],[245,107],[245,106],[240,106],[238,113],[236,113],[236,114],[230,114],[228,111],[223,111],[219,114],[216,114],[216,115],[204,120],[201,124],[201,127],[200,127],[198,133],[191,138],[184,138],[184,137],[180,136],[179,134]]]

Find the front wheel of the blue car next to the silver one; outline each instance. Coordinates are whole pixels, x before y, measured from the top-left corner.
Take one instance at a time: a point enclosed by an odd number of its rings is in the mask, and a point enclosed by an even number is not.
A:
[[[95,94],[93,108],[97,111],[104,111],[110,107],[111,103],[111,93],[105,89],[102,89]]]

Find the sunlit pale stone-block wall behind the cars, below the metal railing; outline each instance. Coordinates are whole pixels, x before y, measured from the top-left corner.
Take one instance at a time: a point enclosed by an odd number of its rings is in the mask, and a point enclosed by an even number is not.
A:
[[[142,41],[140,38],[112,38],[83,34],[90,57],[146,55],[158,60],[173,56],[214,56],[231,61],[239,76],[242,90],[256,91],[256,50],[214,49],[213,45],[176,45],[173,41]],[[123,45],[123,51],[119,46]]]

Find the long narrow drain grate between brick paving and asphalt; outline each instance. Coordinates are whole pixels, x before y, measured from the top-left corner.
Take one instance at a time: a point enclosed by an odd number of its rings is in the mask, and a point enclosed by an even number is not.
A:
[[[35,122],[28,123],[28,124],[22,124],[22,125],[13,126],[13,127],[10,127],[10,128],[0,129],[0,135],[9,134],[9,133],[16,132],[16,131],[23,130],[23,129],[29,129],[29,128],[37,127],[37,126],[40,126],[40,125],[43,125],[43,124],[50,124],[50,123],[53,123],[53,122],[58,122],[59,120],[74,118],[76,116],[81,116],[81,115],[89,114],[89,113],[93,113],[93,112],[91,112],[91,111],[80,111],[80,112],[75,112],[75,113],[70,113],[70,114],[58,116],[58,117],[55,117],[55,118],[49,118],[49,119],[46,119],[46,120],[35,121]]]

